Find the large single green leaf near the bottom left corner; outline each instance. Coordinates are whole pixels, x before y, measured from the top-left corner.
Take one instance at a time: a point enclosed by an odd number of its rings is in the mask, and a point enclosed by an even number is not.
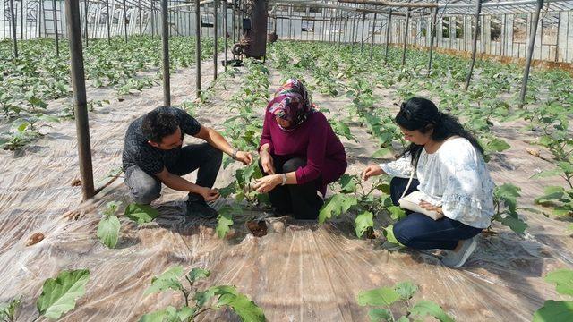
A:
[[[36,306],[40,315],[46,318],[60,318],[75,308],[75,302],[86,292],[90,279],[87,269],[64,270],[56,279],[48,278],[42,287]]]

